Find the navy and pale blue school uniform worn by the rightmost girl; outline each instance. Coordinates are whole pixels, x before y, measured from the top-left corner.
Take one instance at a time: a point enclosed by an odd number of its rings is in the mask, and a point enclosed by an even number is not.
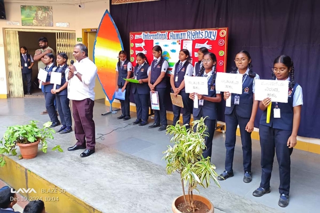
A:
[[[287,80],[289,80],[288,78]],[[280,110],[280,117],[274,115],[271,110],[270,123],[266,122],[267,110],[262,113],[259,126],[261,145],[261,183],[263,189],[270,188],[270,178],[275,153],[279,164],[280,186],[279,193],[289,195],[290,191],[290,155],[293,148],[287,146],[293,128],[293,108],[303,105],[302,88],[295,83],[293,89],[288,92],[288,103],[272,102],[272,108]],[[277,109],[277,110],[278,110]]]

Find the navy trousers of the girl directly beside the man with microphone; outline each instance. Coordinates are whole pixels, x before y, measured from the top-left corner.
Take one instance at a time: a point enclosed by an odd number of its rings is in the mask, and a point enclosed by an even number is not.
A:
[[[72,126],[71,111],[69,107],[69,98],[67,95],[56,95],[57,108],[62,125]]]

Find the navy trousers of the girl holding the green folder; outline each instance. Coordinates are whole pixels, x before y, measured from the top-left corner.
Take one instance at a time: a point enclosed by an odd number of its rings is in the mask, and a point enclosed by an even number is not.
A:
[[[149,118],[149,95],[140,95],[136,89],[133,93],[135,105],[137,108],[137,118],[148,122]]]

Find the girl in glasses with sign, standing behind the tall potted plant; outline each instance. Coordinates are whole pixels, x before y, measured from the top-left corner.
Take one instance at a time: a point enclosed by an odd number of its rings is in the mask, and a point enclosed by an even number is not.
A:
[[[215,90],[216,77],[216,57],[213,53],[206,53],[202,60],[203,68],[197,76],[206,77],[208,80],[208,95],[200,95],[191,93],[189,97],[194,100],[198,97],[198,108],[193,108],[193,119],[199,120],[201,117],[208,116],[204,123],[208,127],[207,133],[209,136],[205,137],[206,149],[202,155],[204,158],[211,157],[212,154],[212,140],[215,130],[215,121],[217,119],[217,103],[221,102],[220,92]]]

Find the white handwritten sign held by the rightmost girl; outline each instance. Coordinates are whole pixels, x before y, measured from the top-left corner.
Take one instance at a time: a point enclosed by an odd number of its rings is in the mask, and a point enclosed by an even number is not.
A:
[[[256,79],[255,100],[271,97],[271,101],[288,103],[288,80],[260,80]]]

